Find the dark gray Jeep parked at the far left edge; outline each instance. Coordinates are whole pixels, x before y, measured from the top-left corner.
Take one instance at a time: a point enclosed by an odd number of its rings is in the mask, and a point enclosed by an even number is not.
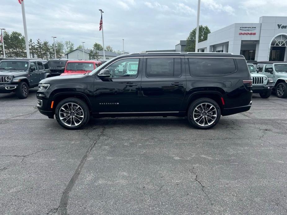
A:
[[[42,59],[11,58],[0,62],[0,93],[16,92],[19,99],[26,99],[29,88],[38,86],[51,76],[48,62]]]

